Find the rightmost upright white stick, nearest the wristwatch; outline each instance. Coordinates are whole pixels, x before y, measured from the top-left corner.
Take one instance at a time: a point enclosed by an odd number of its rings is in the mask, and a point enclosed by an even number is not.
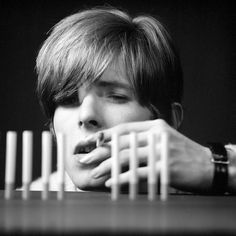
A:
[[[167,132],[161,134],[161,200],[165,201],[168,198],[168,185],[169,185],[169,135]]]

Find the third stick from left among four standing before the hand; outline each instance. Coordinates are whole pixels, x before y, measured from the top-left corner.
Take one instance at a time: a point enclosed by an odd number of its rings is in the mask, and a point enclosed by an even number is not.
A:
[[[148,133],[148,200],[156,199],[157,194],[157,174],[155,157],[155,135]]]

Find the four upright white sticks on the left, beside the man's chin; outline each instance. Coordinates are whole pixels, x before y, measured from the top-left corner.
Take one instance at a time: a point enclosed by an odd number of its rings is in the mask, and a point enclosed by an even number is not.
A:
[[[65,168],[64,158],[66,155],[66,142],[63,134],[57,136],[57,177],[58,199],[64,198]],[[5,199],[11,199],[15,186],[17,133],[8,131],[6,136],[6,169],[5,169]],[[22,198],[30,197],[30,184],[32,182],[33,161],[33,132],[22,133]],[[52,169],[52,135],[49,131],[42,132],[42,199],[49,196],[49,179]]]

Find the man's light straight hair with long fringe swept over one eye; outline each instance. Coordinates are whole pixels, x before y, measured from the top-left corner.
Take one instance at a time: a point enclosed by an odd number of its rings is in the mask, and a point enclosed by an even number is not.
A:
[[[115,8],[84,10],[61,20],[41,47],[37,92],[47,118],[58,105],[72,104],[78,87],[98,80],[114,60],[143,106],[168,119],[171,103],[181,102],[182,68],[173,42],[152,16],[132,18]]]

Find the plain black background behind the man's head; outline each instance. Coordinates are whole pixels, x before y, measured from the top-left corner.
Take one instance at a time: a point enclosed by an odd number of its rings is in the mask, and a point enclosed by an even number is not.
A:
[[[0,188],[5,178],[5,135],[18,132],[17,185],[21,185],[21,132],[34,131],[34,177],[41,173],[41,131],[47,129],[37,97],[35,59],[51,27],[90,6],[111,5],[157,16],[173,36],[185,78],[184,123],[191,139],[236,143],[234,1],[2,1],[0,0]]]

